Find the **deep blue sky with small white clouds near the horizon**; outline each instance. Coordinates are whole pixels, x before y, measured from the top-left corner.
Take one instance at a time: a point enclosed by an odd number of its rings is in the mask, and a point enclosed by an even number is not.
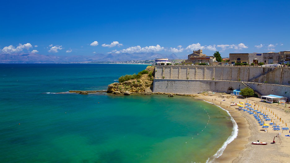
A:
[[[0,54],[290,51],[290,1],[3,1]],[[142,54],[140,54],[142,55]]]

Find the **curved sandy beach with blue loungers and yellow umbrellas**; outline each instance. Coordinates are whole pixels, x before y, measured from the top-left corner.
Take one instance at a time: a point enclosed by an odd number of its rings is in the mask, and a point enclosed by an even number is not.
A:
[[[231,143],[229,143],[224,150],[222,156],[214,160],[214,162],[233,162],[233,163],[245,163],[245,162],[290,162],[290,137],[285,135],[289,134],[289,130],[274,131],[273,126],[269,126],[265,131],[260,126],[257,120],[247,112],[238,110],[238,106],[230,106],[231,102],[239,103],[246,100],[249,104],[255,105],[256,110],[265,112],[269,117],[277,122],[280,127],[289,127],[290,125],[290,104],[279,105],[268,104],[261,102],[260,98],[243,98],[237,97],[225,93],[208,93],[197,94],[197,99],[202,99],[208,102],[212,102],[218,106],[229,111],[238,125],[238,135]],[[224,101],[222,101],[224,100]],[[267,109],[267,111],[266,111]],[[269,111],[270,110],[270,111]],[[272,112],[272,113],[271,113]],[[274,115],[273,115],[274,112]],[[276,114],[276,117],[275,117]],[[278,120],[277,116],[280,120]],[[265,121],[270,123],[271,121]],[[280,134],[279,134],[280,133]],[[275,137],[279,135],[279,138]],[[275,137],[275,144],[271,144]],[[260,142],[268,142],[268,145],[253,145],[251,142],[259,140]]]

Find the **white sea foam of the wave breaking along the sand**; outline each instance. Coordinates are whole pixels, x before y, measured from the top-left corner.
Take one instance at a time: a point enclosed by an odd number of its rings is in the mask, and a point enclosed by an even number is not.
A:
[[[205,100],[204,100],[205,101]],[[208,101],[205,101],[208,102]],[[208,102],[210,104],[213,104],[211,102]],[[214,104],[215,105],[215,104]],[[217,105],[216,105],[217,106]],[[227,112],[227,114],[231,117],[231,121],[233,123],[233,131],[231,132],[231,136],[228,137],[228,139],[222,144],[222,147],[213,155],[213,158],[208,158],[208,160],[206,161],[207,163],[211,163],[214,162],[214,159],[218,158],[219,156],[222,156],[223,151],[226,149],[226,146],[231,143],[237,136],[238,136],[238,125],[235,122],[234,118],[231,116],[231,114],[229,113],[229,111],[227,111],[226,109],[217,106],[219,108],[221,108],[222,110],[225,110]]]

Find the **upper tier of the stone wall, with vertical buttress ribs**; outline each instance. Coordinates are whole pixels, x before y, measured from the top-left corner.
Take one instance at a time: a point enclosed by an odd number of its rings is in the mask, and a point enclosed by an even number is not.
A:
[[[261,75],[262,74],[262,75]],[[257,78],[255,78],[257,77]],[[156,66],[155,79],[216,79],[288,85],[290,68],[238,66]],[[254,78],[254,79],[253,79]],[[253,79],[252,81],[249,81]]]

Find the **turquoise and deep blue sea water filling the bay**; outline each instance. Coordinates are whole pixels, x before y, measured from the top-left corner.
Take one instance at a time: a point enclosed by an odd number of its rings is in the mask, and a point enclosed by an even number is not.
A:
[[[219,155],[235,127],[213,104],[184,96],[55,94],[106,90],[146,67],[0,64],[1,162],[179,163]]]

